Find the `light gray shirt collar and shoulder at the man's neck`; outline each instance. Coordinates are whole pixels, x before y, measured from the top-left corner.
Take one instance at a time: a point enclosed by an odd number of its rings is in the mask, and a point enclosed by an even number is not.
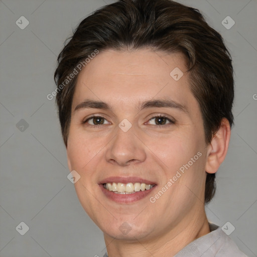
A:
[[[209,226],[210,233],[195,239],[174,257],[247,257],[221,227],[213,223]],[[107,252],[103,257],[108,257]]]

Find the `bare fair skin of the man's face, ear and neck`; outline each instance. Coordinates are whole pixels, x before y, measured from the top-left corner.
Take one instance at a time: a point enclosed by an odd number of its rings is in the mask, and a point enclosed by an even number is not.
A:
[[[179,67],[175,81],[170,72]],[[70,171],[81,176],[74,184],[78,199],[103,231],[109,257],[174,256],[194,239],[210,232],[204,210],[206,172],[215,173],[225,158],[230,127],[223,119],[210,144],[204,138],[199,104],[190,91],[182,54],[151,49],[100,52],[78,75],[67,143]],[[112,109],[75,107],[85,99],[100,100]],[[170,107],[139,109],[143,101],[172,99],[187,111]],[[104,123],[94,125],[92,114]],[[164,125],[155,117],[165,114]],[[118,124],[132,124],[123,132]],[[202,156],[158,199],[155,196],[198,152]],[[137,176],[156,182],[150,196],[121,204],[108,199],[98,183],[110,176]],[[127,234],[119,227],[126,222]]]

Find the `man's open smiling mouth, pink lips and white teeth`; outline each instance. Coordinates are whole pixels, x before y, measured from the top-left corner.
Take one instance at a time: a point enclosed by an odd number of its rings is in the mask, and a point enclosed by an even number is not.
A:
[[[140,178],[108,178],[99,183],[104,195],[117,203],[133,203],[145,198],[157,186]]]

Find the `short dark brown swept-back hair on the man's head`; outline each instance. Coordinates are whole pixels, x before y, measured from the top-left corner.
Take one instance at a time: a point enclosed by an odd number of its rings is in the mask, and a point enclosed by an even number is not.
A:
[[[58,56],[54,74],[57,85],[96,49],[122,51],[145,47],[180,52],[187,59],[191,91],[201,108],[206,143],[211,142],[223,117],[232,126],[231,56],[221,35],[205,22],[197,9],[169,0],[120,0],[85,18],[69,39]],[[76,78],[56,96],[66,147]],[[207,174],[205,203],[210,202],[214,193],[215,174]]]

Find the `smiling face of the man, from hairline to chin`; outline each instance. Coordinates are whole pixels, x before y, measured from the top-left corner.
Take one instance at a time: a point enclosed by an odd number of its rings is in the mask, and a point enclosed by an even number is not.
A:
[[[182,54],[106,50],[78,75],[68,165],[105,235],[154,238],[203,209],[206,144],[186,70]]]

